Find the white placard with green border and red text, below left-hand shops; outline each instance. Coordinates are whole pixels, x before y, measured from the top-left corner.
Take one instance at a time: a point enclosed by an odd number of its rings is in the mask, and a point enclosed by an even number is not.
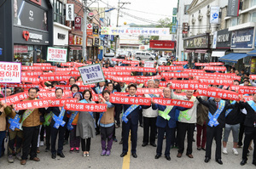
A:
[[[47,49],[47,61],[49,62],[67,62],[67,48]]]

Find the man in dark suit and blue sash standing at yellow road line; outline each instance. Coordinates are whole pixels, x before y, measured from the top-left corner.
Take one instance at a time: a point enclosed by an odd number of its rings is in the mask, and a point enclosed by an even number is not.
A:
[[[131,83],[128,86],[128,92],[129,97],[137,97],[136,94],[137,91],[137,85]],[[124,112],[128,110],[132,106],[131,104],[124,104]],[[128,151],[128,138],[129,138],[129,132],[131,130],[131,155],[134,158],[137,158],[136,154],[136,148],[137,148],[137,127],[138,127],[138,119],[139,119],[139,110],[142,109],[141,106],[137,106],[135,110],[132,110],[129,115],[127,115],[128,121],[123,121],[122,123],[122,129],[123,129],[123,152],[120,155],[120,157],[124,157],[127,155]],[[124,113],[125,114],[125,113]]]

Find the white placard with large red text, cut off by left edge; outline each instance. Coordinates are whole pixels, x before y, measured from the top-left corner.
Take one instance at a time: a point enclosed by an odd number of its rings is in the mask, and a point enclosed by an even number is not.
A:
[[[20,83],[21,63],[0,62],[0,83]]]

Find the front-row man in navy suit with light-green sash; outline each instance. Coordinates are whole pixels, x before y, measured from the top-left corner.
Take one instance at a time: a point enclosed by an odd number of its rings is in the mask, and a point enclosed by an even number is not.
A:
[[[166,87],[163,90],[164,92],[164,97],[166,99],[171,99],[171,89]],[[158,116],[156,119],[156,127],[158,127],[158,139],[157,139],[157,149],[156,149],[156,155],[155,159],[159,159],[161,154],[162,154],[162,145],[163,145],[163,139],[164,135],[166,132],[166,160],[171,161],[170,157],[170,149],[171,149],[171,143],[174,140],[174,128],[176,127],[176,110],[188,110],[183,107],[178,107],[178,106],[166,106],[166,105],[160,105],[160,104],[155,104],[154,101],[152,100],[152,109],[153,110],[158,110]],[[170,118],[166,118],[164,115],[161,115],[161,113],[164,113],[166,109],[169,109],[168,115]]]

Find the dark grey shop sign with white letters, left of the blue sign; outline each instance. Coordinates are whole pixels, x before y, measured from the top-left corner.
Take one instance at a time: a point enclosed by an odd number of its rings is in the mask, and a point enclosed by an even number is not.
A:
[[[230,48],[231,31],[229,29],[217,32],[216,48]]]

